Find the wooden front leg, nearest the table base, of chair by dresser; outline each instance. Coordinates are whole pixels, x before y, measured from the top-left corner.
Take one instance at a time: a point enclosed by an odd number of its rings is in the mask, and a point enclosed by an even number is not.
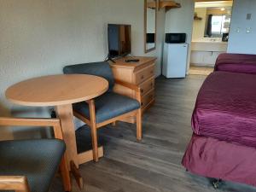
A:
[[[90,108],[90,133],[91,133],[91,142],[92,142],[92,151],[93,151],[93,160],[97,162],[99,160],[98,154],[98,138],[96,130],[96,111],[94,100],[88,101]]]

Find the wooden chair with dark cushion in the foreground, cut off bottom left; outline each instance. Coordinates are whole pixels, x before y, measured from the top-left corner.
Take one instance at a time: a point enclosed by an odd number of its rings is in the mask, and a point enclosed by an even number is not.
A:
[[[56,139],[0,142],[0,191],[46,192],[60,166],[66,191],[71,182],[59,119],[0,118],[1,126],[52,126]]]

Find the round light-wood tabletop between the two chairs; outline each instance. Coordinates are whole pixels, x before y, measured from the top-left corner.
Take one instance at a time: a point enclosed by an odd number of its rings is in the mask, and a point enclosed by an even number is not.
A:
[[[5,96],[10,102],[24,106],[59,106],[90,100],[107,90],[106,79],[87,74],[60,74],[14,84]]]

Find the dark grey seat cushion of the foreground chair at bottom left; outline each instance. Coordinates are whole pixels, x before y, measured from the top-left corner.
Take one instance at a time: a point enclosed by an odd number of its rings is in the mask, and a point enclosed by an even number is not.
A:
[[[0,142],[0,175],[26,176],[32,192],[46,192],[64,151],[57,139]]]

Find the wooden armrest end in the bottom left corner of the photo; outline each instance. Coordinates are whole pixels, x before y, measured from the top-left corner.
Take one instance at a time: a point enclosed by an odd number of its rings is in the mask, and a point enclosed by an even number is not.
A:
[[[0,176],[0,189],[29,192],[27,179],[24,176]]]

